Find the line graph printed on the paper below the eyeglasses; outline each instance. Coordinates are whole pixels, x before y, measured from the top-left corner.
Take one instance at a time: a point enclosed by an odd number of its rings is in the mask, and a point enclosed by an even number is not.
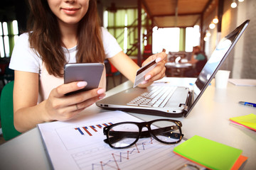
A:
[[[89,147],[89,146],[88,146]],[[112,149],[90,146],[91,149],[73,154],[72,157],[80,170],[107,169],[177,169],[188,160],[174,154],[176,145],[166,145],[153,138],[143,138],[137,145],[128,149]]]

